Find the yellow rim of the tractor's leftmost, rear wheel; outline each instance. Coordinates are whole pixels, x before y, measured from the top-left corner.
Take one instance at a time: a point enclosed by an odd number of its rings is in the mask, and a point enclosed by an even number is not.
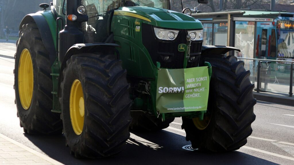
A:
[[[22,107],[28,110],[31,106],[34,88],[33,63],[28,49],[22,50],[18,69],[19,98]]]

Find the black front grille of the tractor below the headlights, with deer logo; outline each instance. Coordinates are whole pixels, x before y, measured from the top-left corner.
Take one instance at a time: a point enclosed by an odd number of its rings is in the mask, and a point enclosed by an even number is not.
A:
[[[174,29],[178,30],[178,29]],[[183,68],[185,52],[178,51],[178,45],[181,43],[187,43],[186,30],[180,30],[177,38],[173,41],[162,41],[156,38],[153,32],[153,26],[142,23],[142,40],[143,45],[148,50],[151,59],[156,65],[156,62],[160,62],[161,68],[179,69]],[[195,56],[196,59],[191,62],[188,61],[187,68],[197,67],[200,59],[202,41],[192,41],[190,56]],[[165,55],[169,56],[168,61],[164,61]]]

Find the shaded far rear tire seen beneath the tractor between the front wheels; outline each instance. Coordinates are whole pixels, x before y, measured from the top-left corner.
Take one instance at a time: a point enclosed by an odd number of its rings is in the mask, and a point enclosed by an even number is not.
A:
[[[154,115],[147,115],[143,112],[131,112],[133,118],[130,129],[133,131],[158,131],[165,129],[175,119],[166,118],[163,122],[161,117],[157,118]]]

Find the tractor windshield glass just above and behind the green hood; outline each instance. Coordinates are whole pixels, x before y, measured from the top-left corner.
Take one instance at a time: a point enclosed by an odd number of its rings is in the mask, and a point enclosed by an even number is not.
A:
[[[169,8],[169,0],[82,0],[82,4],[86,6],[88,11],[90,10],[96,14],[103,14],[107,11],[123,6],[148,6],[163,9]]]

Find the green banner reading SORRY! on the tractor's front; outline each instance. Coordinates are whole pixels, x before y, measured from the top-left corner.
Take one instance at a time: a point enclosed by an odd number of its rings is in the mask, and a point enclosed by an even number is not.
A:
[[[156,110],[159,113],[206,110],[208,95],[207,66],[158,70]]]

